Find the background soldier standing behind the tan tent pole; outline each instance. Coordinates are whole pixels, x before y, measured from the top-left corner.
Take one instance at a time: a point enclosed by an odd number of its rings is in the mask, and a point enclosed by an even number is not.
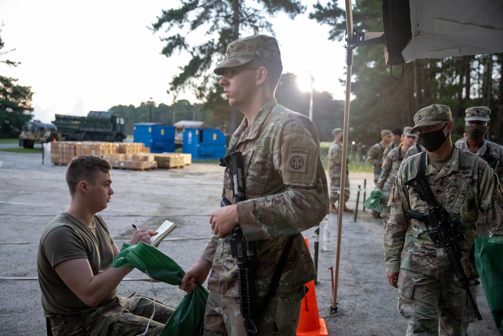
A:
[[[328,176],[330,177],[330,212],[333,214],[338,213],[338,209],[335,203],[340,202],[340,190],[341,190],[341,165],[343,161],[343,129],[334,128],[332,129],[333,142],[330,144],[328,149]],[[344,188],[344,202],[343,211],[352,213],[353,210],[346,207],[346,202],[349,199],[349,167],[346,165],[346,182]]]

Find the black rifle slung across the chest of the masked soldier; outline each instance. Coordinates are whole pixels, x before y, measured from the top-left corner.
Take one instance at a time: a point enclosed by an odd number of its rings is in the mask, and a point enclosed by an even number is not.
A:
[[[475,310],[475,315],[480,321],[482,320],[482,316],[478,311],[477,303],[473,299],[469,288],[470,286],[480,284],[480,282],[474,280],[476,279],[476,275],[473,265],[468,256],[461,257],[461,252],[457,244],[457,241],[462,241],[466,239],[466,237],[461,230],[461,223],[459,220],[457,218],[452,218],[449,221],[447,211],[444,207],[439,206],[435,200],[435,196],[433,195],[425,176],[425,167],[426,153],[423,153],[417,175],[404,184],[410,185],[417,192],[419,198],[427,202],[428,212],[423,214],[409,209],[408,215],[411,219],[424,222],[428,230],[428,234],[435,245],[440,244],[444,246],[447,256],[449,257],[449,262],[454,269],[454,273],[461,282],[461,286],[466,291],[470,303]],[[472,284],[470,284],[471,280],[473,280]]]

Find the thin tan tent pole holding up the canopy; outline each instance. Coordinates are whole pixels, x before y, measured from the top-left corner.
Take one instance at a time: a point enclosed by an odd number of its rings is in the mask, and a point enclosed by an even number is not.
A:
[[[341,255],[341,234],[343,228],[344,193],[346,184],[346,158],[348,157],[348,135],[349,135],[349,105],[351,98],[351,71],[353,66],[353,12],[351,10],[351,0],[346,0],[346,22],[348,26],[348,56],[346,59],[346,102],[344,104],[344,127],[343,127],[343,159],[341,163],[341,193],[339,194],[339,214],[337,219],[337,252],[336,252],[336,274],[333,282],[333,300],[331,311],[337,312],[337,284],[339,281],[339,261]],[[355,209],[355,211],[358,211]]]

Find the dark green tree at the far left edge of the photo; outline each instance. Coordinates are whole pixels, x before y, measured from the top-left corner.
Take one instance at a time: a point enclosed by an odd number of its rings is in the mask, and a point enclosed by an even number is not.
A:
[[[0,38],[0,50],[3,47],[4,42]],[[0,56],[4,57],[7,52],[0,51]],[[8,59],[0,62],[11,66],[20,64]],[[18,137],[23,124],[33,117],[31,87],[16,85],[17,81],[15,78],[0,76],[0,138]]]

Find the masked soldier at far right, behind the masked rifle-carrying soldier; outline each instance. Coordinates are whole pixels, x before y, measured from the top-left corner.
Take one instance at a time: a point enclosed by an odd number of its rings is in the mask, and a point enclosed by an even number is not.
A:
[[[484,159],[498,176],[499,183],[503,183],[503,147],[484,139],[491,120],[491,110],[486,106],[477,106],[467,108],[465,113],[466,137],[458,140],[456,147]],[[477,228],[479,236],[489,235],[485,219],[480,213]]]

